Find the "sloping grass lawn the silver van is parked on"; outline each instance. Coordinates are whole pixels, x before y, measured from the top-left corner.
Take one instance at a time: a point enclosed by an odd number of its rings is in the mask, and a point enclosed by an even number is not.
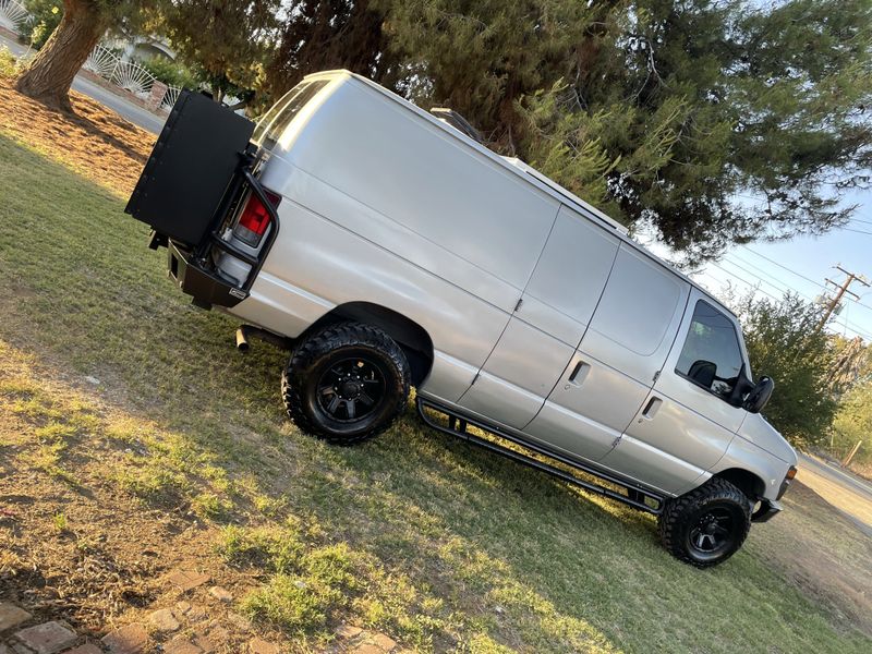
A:
[[[651,517],[438,435],[411,405],[360,447],[306,437],[281,407],[286,354],[238,354],[237,324],[175,291],[123,206],[0,132],[0,508],[45,491],[23,526],[0,522],[0,573],[55,552],[72,574],[57,553],[90,547],[142,586],[97,613],[75,598],[69,619],[147,610],[184,552],[291,651],[340,622],[421,651],[872,650],[850,607],[778,562],[787,522],[699,571]],[[823,531],[870,560],[844,524]],[[159,556],[136,568],[146,541]]]

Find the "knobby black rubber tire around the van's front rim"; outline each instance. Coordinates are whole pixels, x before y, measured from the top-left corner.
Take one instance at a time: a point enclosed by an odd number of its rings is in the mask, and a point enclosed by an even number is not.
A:
[[[728,513],[730,520],[729,542],[723,550],[703,553],[691,541],[691,534],[712,511]],[[699,488],[666,501],[657,520],[663,546],[677,559],[695,566],[711,568],[736,554],[751,529],[751,501],[726,480],[712,477]]]

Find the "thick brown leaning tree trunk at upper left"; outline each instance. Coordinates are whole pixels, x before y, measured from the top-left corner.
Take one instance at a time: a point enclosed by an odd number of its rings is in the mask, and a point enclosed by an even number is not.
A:
[[[31,65],[15,81],[15,89],[50,107],[72,111],[70,86],[99,43],[106,23],[96,2],[63,0],[63,19]]]

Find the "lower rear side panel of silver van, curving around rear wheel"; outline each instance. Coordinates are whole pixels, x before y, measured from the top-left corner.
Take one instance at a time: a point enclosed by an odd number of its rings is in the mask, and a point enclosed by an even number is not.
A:
[[[233,313],[294,337],[328,307],[380,304],[428,332],[438,364],[422,388],[457,400],[499,338],[506,312],[299,204],[286,198],[282,209],[252,296]]]

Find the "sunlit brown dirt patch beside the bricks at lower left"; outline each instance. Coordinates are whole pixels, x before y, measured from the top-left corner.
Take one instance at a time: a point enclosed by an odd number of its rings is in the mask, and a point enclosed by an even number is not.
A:
[[[0,341],[0,384],[36,384],[35,372]],[[147,621],[156,608],[184,601],[202,613],[201,629],[213,623],[227,630],[221,652],[241,651],[253,635],[251,626],[208,589],[219,585],[239,598],[256,581],[226,564],[215,549],[215,528],[199,521],[190,506],[169,502],[155,509],[107,479],[106,467],[97,461],[121,464],[131,453],[130,444],[97,435],[98,425],[116,419],[117,409],[88,393],[81,378],[43,373],[40,397],[63,398],[57,409],[80,421],[81,433],[71,443],[75,473],[74,479],[46,474],[36,457],[28,459],[32,465],[14,463],[32,451],[33,443],[45,440],[39,429],[48,419],[22,410],[21,402],[34,400],[31,390],[7,386],[0,392],[0,600],[26,605],[39,621],[64,620],[93,638]],[[204,572],[209,581],[182,592],[170,581],[179,570]],[[275,635],[263,627],[256,634]],[[160,642],[160,634],[155,638]]]

